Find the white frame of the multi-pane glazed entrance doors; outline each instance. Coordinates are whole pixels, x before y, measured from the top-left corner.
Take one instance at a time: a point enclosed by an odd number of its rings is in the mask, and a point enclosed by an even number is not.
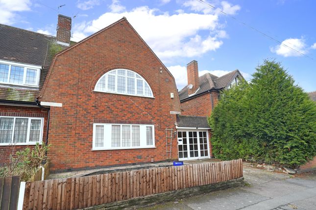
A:
[[[177,147],[178,149],[178,160],[180,161],[183,161],[183,160],[198,160],[198,159],[209,159],[211,158],[211,154],[210,154],[210,140],[209,140],[209,129],[177,129],[177,142],[179,144],[179,141],[178,141],[178,131],[179,132],[186,132],[187,133],[187,147],[188,147],[188,157],[187,158],[179,158],[179,147]],[[192,131],[192,132],[197,132],[196,133],[196,136],[197,136],[197,140],[198,140],[198,144],[197,144],[197,149],[198,149],[198,157],[190,157],[190,147],[189,147],[189,131]],[[203,156],[201,157],[201,154],[200,154],[200,142],[199,142],[199,131],[201,132],[206,132],[206,140],[207,140],[207,149],[208,149],[208,156]]]

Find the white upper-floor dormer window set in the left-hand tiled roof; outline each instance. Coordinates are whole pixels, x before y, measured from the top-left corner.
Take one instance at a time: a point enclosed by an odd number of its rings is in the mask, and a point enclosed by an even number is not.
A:
[[[38,87],[41,66],[0,60],[0,83]]]

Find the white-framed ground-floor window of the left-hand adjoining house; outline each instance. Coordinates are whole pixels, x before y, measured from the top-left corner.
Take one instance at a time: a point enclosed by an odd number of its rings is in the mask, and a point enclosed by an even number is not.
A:
[[[0,116],[0,146],[42,143],[44,118]]]

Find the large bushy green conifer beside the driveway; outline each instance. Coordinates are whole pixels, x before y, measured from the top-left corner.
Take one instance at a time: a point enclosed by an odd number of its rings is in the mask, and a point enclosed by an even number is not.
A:
[[[274,61],[259,65],[250,84],[224,90],[209,123],[222,159],[295,167],[316,155],[316,104]]]

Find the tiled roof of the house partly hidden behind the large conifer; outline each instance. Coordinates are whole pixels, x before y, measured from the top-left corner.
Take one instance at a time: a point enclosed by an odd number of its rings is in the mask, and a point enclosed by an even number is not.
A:
[[[210,73],[203,74],[202,76],[198,78],[200,89],[194,95],[203,93],[212,88],[221,89],[221,88],[227,87],[232,82],[232,79],[236,76],[236,74],[243,77],[242,74],[239,72],[239,70],[231,71],[221,77],[217,77]],[[185,87],[182,88],[182,90],[179,91],[180,101],[189,98],[187,86],[188,85],[186,85]]]

